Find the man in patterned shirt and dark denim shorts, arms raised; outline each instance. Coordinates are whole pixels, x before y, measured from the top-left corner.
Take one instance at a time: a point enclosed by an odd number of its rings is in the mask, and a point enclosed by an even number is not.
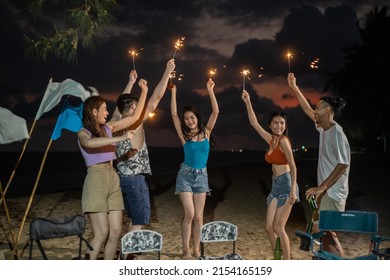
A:
[[[169,77],[174,69],[175,62],[174,59],[171,59],[167,62],[160,82],[145,105],[145,112],[135,124],[137,128],[133,138],[117,144],[116,169],[120,177],[125,209],[130,218],[129,231],[140,230],[143,225],[150,223],[149,186],[145,180],[145,175],[151,175],[152,171],[143,122],[148,119],[149,113],[157,108],[158,103],[164,96]],[[125,117],[134,114],[138,96],[130,93],[130,91],[136,79],[137,73],[132,70],[129,75],[129,82],[123,94],[117,100],[117,110],[114,112],[114,117],[120,117],[120,115]],[[134,129],[134,127],[131,127],[131,129]]]

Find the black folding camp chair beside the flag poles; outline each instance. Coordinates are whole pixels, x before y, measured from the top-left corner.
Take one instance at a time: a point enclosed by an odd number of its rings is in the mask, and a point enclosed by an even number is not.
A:
[[[29,259],[32,259],[33,243],[37,242],[38,248],[43,259],[47,260],[47,255],[43,249],[41,240],[62,238],[67,236],[77,235],[80,238],[78,257],[81,259],[82,242],[87,244],[90,250],[93,250],[89,242],[83,237],[85,231],[85,218],[82,215],[76,215],[67,218],[38,218],[30,224],[30,254]]]

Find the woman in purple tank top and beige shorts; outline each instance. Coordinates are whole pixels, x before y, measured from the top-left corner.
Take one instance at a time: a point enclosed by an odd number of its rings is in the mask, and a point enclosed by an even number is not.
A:
[[[123,199],[119,177],[112,166],[116,159],[115,144],[134,136],[134,130],[112,137],[112,132],[134,124],[141,116],[148,92],[147,82],[140,80],[142,90],[136,112],[118,121],[106,122],[106,101],[100,96],[91,96],[84,102],[83,125],[78,133],[80,150],[88,167],[82,193],[83,213],[90,219],[93,250],[88,250],[86,259],[95,260],[103,249],[104,259],[114,259],[122,230]]]

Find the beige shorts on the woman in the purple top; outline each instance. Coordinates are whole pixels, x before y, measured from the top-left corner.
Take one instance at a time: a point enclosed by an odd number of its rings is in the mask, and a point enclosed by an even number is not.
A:
[[[88,167],[81,203],[83,213],[124,209],[119,176],[112,166]]]

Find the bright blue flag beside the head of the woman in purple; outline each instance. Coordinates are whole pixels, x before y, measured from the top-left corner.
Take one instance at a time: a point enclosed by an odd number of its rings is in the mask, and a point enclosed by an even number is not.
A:
[[[56,126],[54,127],[53,134],[51,135],[52,140],[57,140],[61,137],[61,130],[67,129],[73,132],[78,132],[83,127],[83,106],[81,103],[78,107],[73,107],[69,104],[68,100],[65,101],[63,110],[58,116]]]

